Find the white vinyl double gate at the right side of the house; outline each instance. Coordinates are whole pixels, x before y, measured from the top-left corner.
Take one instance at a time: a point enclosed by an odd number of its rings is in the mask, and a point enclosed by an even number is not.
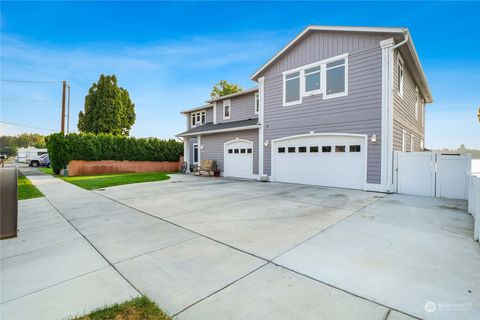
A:
[[[395,152],[397,192],[467,199],[470,156],[435,152]]]

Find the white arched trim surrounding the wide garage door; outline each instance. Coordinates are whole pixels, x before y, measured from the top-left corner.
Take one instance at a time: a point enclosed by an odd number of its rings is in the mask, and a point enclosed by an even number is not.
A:
[[[275,161],[275,152],[277,151],[277,145],[282,142],[288,142],[289,140],[296,140],[301,138],[315,138],[315,137],[341,137],[341,138],[359,138],[363,142],[363,182],[362,182],[362,189],[367,189],[367,159],[368,159],[368,136],[365,134],[352,134],[352,133],[310,133],[310,134],[301,134],[301,135],[294,135],[289,137],[282,137],[278,139],[272,140],[272,147],[270,152],[270,160],[271,160],[271,180],[277,181],[277,173],[276,173],[276,161]],[[328,141],[328,140],[326,140]],[[295,172],[292,170],[292,175]]]

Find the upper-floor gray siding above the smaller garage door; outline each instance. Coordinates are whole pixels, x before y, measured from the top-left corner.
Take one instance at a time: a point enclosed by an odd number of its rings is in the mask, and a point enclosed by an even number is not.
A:
[[[258,118],[255,114],[255,92],[230,98],[230,119],[223,119],[223,100],[217,101],[217,123]]]

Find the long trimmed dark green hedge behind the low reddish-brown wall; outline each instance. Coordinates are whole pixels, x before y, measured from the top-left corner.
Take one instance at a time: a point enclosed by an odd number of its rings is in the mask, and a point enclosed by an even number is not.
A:
[[[51,134],[47,148],[56,174],[71,160],[178,161],[183,154],[183,143],[173,139],[90,133]]]

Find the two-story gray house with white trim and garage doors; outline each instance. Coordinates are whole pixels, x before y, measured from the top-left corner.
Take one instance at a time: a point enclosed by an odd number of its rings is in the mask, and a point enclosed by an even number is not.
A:
[[[422,151],[432,95],[405,28],[310,26],[258,88],[183,111],[185,159],[224,176],[394,190],[394,151]]]

